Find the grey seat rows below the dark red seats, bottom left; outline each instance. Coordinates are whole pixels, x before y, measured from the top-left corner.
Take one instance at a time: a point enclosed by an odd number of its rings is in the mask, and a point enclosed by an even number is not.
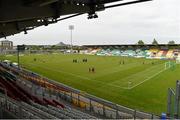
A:
[[[57,117],[45,113],[44,111],[37,109],[36,107],[29,105],[22,101],[16,101],[7,97],[6,95],[0,94],[0,107],[10,112],[14,118],[23,119],[57,119]]]

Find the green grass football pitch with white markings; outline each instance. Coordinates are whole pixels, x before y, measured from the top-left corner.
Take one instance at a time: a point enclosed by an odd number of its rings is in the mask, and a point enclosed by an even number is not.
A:
[[[83,58],[88,62],[83,63]],[[16,61],[15,56],[5,59]],[[73,59],[78,62],[73,63]],[[179,65],[165,70],[165,62],[78,54],[20,57],[26,69],[117,104],[155,114],[166,112],[167,89],[174,88],[175,81],[180,79]],[[95,68],[95,73],[89,72],[90,67]]]

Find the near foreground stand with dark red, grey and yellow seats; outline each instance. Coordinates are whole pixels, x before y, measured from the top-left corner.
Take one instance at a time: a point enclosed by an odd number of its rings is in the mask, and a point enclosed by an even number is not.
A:
[[[128,53],[132,53],[128,51]],[[0,63],[0,106],[15,118],[159,118],[83,94],[25,69]],[[17,77],[18,76],[18,77]],[[74,102],[73,102],[74,101]]]

